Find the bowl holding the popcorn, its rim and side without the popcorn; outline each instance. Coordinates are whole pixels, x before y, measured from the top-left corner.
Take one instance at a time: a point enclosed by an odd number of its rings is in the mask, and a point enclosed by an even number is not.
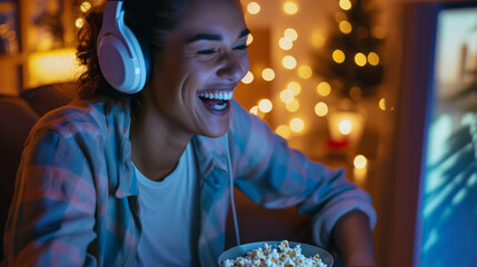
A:
[[[229,248],[220,255],[218,259],[218,264],[219,266],[222,266],[222,263],[226,259],[236,259],[237,257],[244,257],[250,250],[257,249],[259,247],[262,248],[265,243],[270,245],[272,248],[278,248],[278,245],[280,245],[281,241],[249,243],[249,244],[244,244],[237,247]],[[316,246],[311,246],[308,244],[302,244],[302,243],[289,241],[288,244],[290,245],[291,248],[294,248],[297,245],[300,245],[301,254],[305,257],[310,258],[310,257],[314,257],[316,254],[318,254],[324,264],[326,264],[328,267],[332,266],[332,257],[325,249]]]

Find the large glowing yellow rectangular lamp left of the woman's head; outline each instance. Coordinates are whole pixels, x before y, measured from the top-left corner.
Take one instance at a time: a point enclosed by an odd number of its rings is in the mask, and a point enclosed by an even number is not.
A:
[[[32,53],[27,66],[27,87],[73,81],[85,71],[85,67],[78,65],[73,48]]]

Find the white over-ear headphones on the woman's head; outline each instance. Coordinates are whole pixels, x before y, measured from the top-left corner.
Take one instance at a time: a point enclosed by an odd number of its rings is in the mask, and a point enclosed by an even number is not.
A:
[[[101,72],[113,88],[125,93],[142,90],[147,59],[138,39],[125,24],[122,0],[106,2],[97,49]]]

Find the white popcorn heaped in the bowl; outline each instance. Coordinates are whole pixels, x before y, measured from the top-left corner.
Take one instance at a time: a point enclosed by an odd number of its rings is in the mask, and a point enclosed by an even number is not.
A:
[[[226,259],[223,267],[327,267],[318,254],[307,258],[301,254],[300,245],[290,248],[287,240],[272,248],[267,243],[264,247],[250,250],[245,257],[238,257],[235,260]]]

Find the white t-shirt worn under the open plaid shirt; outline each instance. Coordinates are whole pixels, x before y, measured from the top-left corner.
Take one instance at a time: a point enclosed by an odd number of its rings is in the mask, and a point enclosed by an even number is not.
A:
[[[135,166],[140,220],[136,266],[197,266],[200,231],[199,179],[190,144],[176,169],[162,181],[145,177]]]

